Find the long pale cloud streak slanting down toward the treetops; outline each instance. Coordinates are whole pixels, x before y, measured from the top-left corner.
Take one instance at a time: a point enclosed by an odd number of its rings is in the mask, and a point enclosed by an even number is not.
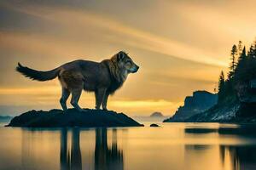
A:
[[[50,8],[38,6],[11,6],[25,14],[31,14],[44,20],[51,20],[62,26],[62,29],[73,31],[89,31],[92,28],[100,29],[108,36],[108,40],[123,43],[134,48],[166,54],[169,57],[176,56],[180,59],[188,59],[207,65],[221,65],[226,63],[215,59],[213,54],[203,49],[193,48],[183,42],[174,41],[166,37],[160,37],[148,31],[143,31],[132,26],[127,26],[119,20],[113,20],[108,16],[93,13],[89,10],[74,10],[73,8]],[[90,30],[91,31],[91,30]],[[107,32],[106,32],[107,31]],[[109,33],[108,33],[109,31]],[[93,31],[92,31],[93,32]],[[100,34],[104,34],[99,32]]]

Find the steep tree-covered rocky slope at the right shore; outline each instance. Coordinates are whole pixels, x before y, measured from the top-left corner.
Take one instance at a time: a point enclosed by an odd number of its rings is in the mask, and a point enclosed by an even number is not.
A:
[[[230,59],[227,77],[221,71],[218,79],[216,105],[190,116],[177,111],[165,122],[175,122],[177,118],[181,122],[256,122],[256,41],[248,50],[241,41],[234,44]]]

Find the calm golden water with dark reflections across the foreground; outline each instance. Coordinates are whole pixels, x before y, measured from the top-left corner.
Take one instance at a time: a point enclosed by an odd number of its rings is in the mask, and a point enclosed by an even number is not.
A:
[[[218,123],[0,127],[0,169],[256,169],[256,131],[241,133],[241,128]]]

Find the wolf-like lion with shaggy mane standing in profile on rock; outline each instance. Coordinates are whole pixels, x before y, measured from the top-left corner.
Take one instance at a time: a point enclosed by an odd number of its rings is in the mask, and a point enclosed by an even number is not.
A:
[[[74,60],[61,65],[51,71],[36,71],[18,63],[16,71],[25,77],[40,82],[49,81],[58,77],[61,82],[61,108],[67,111],[67,99],[72,94],[71,105],[84,111],[79,106],[79,98],[83,89],[94,92],[96,110],[107,109],[108,96],[121,88],[130,73],[136,73],[139,66],[124,51],[114,54],[111,59],[102,62],[90,60]]]

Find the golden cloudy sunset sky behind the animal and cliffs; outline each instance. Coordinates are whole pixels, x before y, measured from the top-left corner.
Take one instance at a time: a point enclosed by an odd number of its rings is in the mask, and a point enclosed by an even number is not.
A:
[[[0,115],[61,108],[57,79],[35,82],[18,62],[51,70],[74,59],[101,61],[125,50],[140,66],[110,97],[130,116],[172,115],[195,90],[213,92],[230,48],[256,36],[255,1],[73,0],[0,2]],[[94,108],[83,93],[82,107]]]

